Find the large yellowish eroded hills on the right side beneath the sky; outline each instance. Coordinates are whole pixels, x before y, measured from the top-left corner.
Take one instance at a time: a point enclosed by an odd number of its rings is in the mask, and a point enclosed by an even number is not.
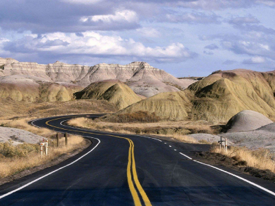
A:
[[[275,117],[275,71],[217,71],[181,92],[160,93],[119,113],[155,112],[163,119],[228,122],[243,110]],[[176,108],[176,109],[174,109]]]

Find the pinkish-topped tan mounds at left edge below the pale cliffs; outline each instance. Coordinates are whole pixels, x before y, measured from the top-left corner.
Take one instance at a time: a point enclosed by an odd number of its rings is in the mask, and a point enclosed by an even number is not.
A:
[[[83,89],[76,84],[50,82],[35,76],[12,75],[0,77],[0,97],[24,102],[69,101]]]

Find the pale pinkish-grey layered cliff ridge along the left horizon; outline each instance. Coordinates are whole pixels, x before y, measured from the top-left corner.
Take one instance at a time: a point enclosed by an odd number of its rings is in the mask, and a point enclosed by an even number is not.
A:
[[[195,80],[179,80],[146,62],[132,62],[129,65],[99,64],[93,67],[69,65],[55,62],[39,65],[35,62],[18,62],[11,58],[0,58],[0,76],[23,74],[45,78],[52,82],[67,82],[87,87],[101,80],[120,80],[137,94],[150,97],[166,91],[179,91]]]

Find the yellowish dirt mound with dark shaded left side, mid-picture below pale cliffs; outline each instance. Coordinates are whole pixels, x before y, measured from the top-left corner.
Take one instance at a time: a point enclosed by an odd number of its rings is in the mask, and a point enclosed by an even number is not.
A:
[[[91,83],[83,91],[75,93],[75,96],[76,99],[107,100],[118,106],[119,109],[142,100],[126,84],[118,80]]]

